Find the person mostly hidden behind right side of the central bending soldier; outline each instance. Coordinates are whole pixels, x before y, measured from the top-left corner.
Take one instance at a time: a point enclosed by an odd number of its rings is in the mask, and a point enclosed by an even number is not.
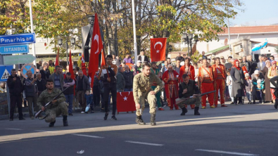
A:
[[[159,79],[162,78],[161,72],[157,69],[156,62],[152,62],[152,63],[151,63],[151,73],[156,74],[156,76],[158,76]],[[157,86],[158,86],[158,84],[153,83],[153,84],[151,85],[151,89],[155,90]],[[156,93],[156,104],[158,105],[158,110],[164,110],[164,109],[162,108],[160,96],[161,96],[161,90],[158,91],[158,93]]]

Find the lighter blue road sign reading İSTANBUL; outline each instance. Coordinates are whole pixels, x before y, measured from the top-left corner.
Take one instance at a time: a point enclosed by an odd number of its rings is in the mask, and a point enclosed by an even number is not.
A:
[[[0,46],[0,54],[29,53],[29,45]]]

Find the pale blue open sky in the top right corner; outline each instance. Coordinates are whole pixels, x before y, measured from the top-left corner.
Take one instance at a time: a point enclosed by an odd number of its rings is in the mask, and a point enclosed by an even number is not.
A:
[[[278,0],[241,0],[244,12],[236,10],[230,25],[256,26],[278,24]]]

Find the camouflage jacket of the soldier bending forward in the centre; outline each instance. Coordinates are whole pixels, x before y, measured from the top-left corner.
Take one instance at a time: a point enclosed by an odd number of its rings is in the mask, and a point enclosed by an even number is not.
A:
[[[141,93],[148,93],[151,91],[151,86],[153,83],[156,83],[158,86],[154,90],[156,93],[162,89],[162,82],[161,80],[156,76],[156,74],[150,73],[149,77],[145,77],[143,73],[139,73],[135,75],[133,79],[133,96],[134,96],[134,102],[139,103],[139,94]]]

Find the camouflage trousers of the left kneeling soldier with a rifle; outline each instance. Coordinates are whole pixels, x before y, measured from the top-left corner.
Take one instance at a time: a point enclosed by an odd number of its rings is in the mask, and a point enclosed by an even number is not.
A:
[[[45,122],[54,122],[59,115],[68,115],[68,104],[63,102],[46,110]]]

